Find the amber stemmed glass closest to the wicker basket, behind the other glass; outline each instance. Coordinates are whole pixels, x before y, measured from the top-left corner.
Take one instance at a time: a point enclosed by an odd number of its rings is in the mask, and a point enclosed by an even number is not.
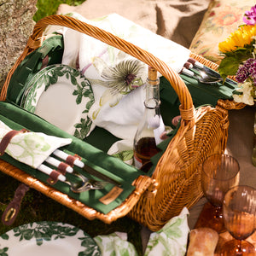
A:
[[[226,192],[238,185],[240,166],[237,160],[229,154],[212,154],[202,165],[201,186],[209,201],[204,212],[204,225],[223,232],[222,204]]]

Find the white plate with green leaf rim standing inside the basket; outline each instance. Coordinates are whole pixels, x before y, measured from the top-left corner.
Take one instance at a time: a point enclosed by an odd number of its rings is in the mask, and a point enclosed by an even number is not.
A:
[[[90,81],[67,65],[46,67],[27,86],[22,108],[84,139],[95,128],[88,117],[94,103]]]

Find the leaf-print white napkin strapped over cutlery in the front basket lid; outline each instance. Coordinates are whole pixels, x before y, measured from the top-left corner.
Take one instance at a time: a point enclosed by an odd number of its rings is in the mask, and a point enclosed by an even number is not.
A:
[[[0,120],[0,140],[9,131],[12,129]],[[70,138],[48,136],[42,132],[25,132],[12,137],[5,152],[15,160],[37,169],[56,148],[70,143]]]

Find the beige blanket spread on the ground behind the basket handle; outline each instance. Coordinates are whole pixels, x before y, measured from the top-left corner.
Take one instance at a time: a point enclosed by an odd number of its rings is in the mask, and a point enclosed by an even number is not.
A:
[[[86,0],[79,6],[61,4],[58,14],[77,12],[87,19],[117,13],[189,48],[210,0]]]

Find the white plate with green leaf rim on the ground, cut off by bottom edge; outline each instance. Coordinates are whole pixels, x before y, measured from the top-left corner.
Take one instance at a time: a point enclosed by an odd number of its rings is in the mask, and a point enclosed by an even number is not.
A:
[[[100,256],[100,248],[83,230],[58,222],[23,224],[0,236],[0,255]]]

